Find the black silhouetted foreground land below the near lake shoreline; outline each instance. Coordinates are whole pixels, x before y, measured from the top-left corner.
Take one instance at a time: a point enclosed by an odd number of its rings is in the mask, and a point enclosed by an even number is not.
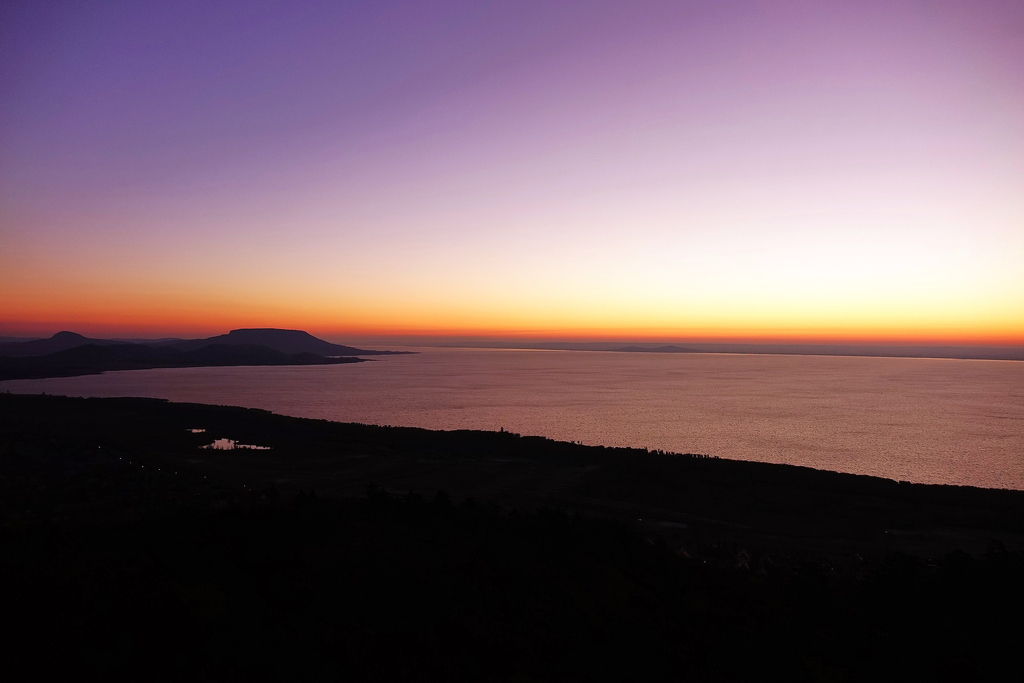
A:
[[[978,680],[1022,635],[1022,493],[508,433],[0,394],[0,520],[17,680]]]

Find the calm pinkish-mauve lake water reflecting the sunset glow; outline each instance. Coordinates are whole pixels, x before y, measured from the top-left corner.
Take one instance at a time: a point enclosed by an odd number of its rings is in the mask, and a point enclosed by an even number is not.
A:
[[[194,368],[0,390],[156,396],[345,422],[1024,489],[1024,362],[422,349],[351,366]]]

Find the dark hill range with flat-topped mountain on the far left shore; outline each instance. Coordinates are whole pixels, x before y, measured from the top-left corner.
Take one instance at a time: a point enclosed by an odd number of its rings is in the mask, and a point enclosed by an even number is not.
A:
[[[338,365],[394,353],[403,352],[332,344],[300,330],[232,330],[209,339],[144,344],[58,332],[49,339],[0,344],[0,380],[154,368]]]

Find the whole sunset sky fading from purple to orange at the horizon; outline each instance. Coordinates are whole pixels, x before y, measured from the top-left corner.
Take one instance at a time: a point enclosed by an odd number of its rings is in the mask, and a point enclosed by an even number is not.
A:
[[[0,2],[0,335],[1024,343],[1024,3]]]

